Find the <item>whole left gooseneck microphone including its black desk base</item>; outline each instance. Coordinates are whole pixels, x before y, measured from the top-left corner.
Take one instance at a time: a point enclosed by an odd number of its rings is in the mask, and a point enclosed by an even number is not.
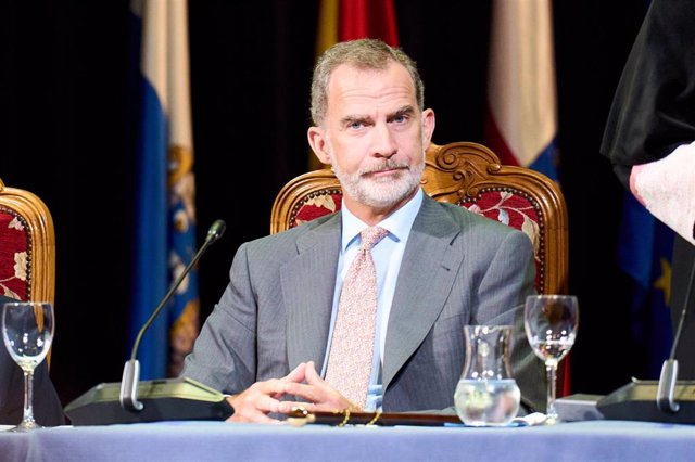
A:
[[[225,232],[226,224],[216,220],[207,231],[205,242],[184,271],[172,283],[156,309],[138,332],[130,359],[123,369],[121,382],[99,384],[70,402],[65,414],[73,425],[109,425],[176,420],[224,420],[233,413],[225,396],[189,377],[160,378],[139,382],[137,359],[140,341],[162,309],[172,298],[184,278],[200,257]]]

